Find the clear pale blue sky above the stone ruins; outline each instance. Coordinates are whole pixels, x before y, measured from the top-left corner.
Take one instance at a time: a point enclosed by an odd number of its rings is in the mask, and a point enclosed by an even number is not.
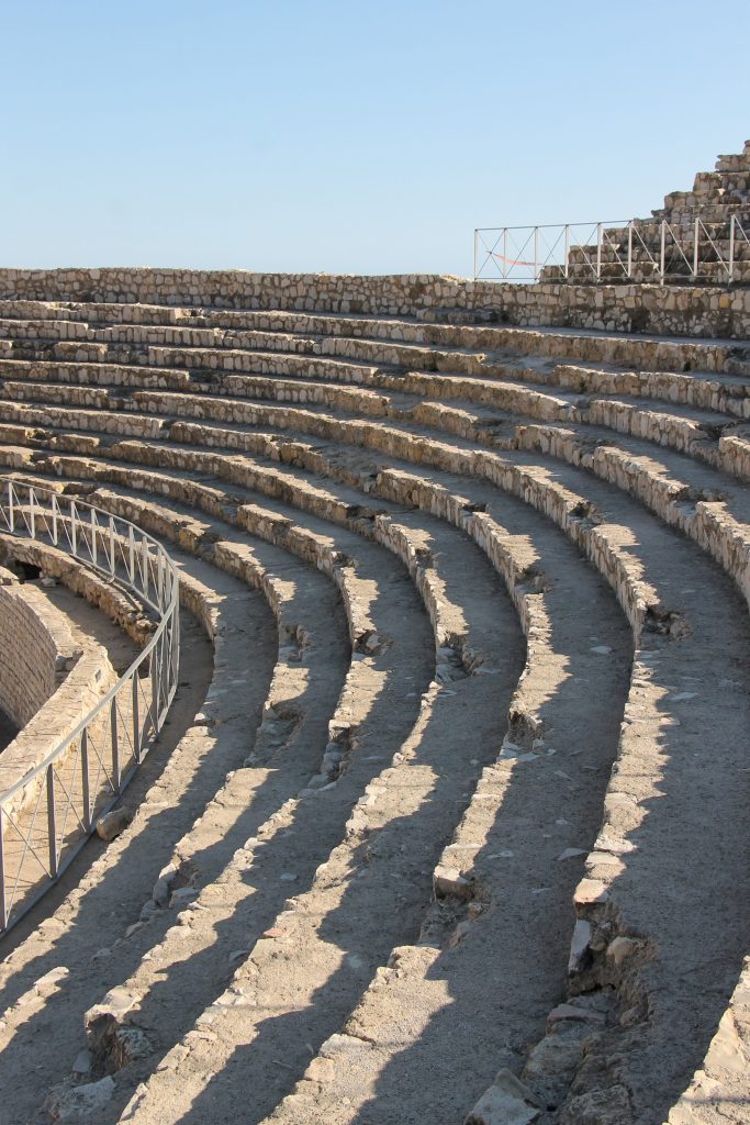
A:
[[[750,137],[749,0],[0,0],[0,263],[469,274]]]

